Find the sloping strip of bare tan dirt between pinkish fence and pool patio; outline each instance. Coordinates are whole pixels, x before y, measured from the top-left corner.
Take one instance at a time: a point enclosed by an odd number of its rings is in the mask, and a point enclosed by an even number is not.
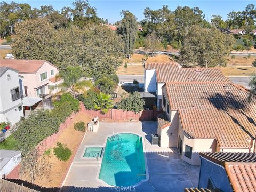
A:
[[[83,121],[87,125],[88,122],[91,121],[91,118],[84,113],[79,113],[75,119],[74,123]],[[74,125],[71,124],[65,129],[60,137],[58,138],[57,142],[61,142],[67,145],[67,147],[73,152],[77,145],[79,145],[81,142],[81,139],[83,137],[84,133],[77,131],[74,129]],[[56,142],[56,143],[57,143]],[[59,187],[61,179],[63,175],[65,174],[67,167],[71,161],[71,157],[68,161],[60,161],[54,154],[53,154],[53,148],[56,146],[56,143],[51,148],[50,155],[47,155],[47,161],[49,161],[49,164],[51,164],[51,170],[49,170],[49,173],[47,173],[42,179],[36,180],[35,184],[43,186],[43,187]],[[23,178],[27,179],[28,178]]]

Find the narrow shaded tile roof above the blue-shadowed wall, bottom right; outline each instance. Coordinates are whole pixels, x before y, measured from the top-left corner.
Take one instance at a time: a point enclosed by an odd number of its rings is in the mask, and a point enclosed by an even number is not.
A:
[[[243,152],[201,152],[200,156],[224,166],[225,162],[254,162],[256,164],[256,153],[243,153]]]

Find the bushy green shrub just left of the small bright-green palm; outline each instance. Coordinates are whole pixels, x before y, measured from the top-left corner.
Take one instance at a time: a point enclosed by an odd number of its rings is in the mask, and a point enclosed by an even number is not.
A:
[[[97,89],[89,89],[86,95],[79,95],[78,99],[84,103],[84,107],[88,110],[94,110],[94,99],[96,99]]]

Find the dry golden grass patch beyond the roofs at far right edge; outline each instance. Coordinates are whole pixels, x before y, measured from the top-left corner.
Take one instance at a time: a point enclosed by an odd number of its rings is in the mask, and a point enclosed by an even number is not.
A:
[[[251,76],[255,72],[254,67],[221,67],[225,76]]]

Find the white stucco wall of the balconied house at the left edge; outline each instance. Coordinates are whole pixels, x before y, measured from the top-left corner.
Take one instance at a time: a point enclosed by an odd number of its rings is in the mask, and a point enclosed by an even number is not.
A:
[[[11,75],[8,81],[7,75]],[[14,124],[23,116],[23,109],[19,111],[18,107],[22,106],[22,100],[12,100],[11,90],[20,87],[18,73],[13,70],[7,70],[0,78],[0,122],[10,121]],[[22,87],[20,87],[22,90]]]

